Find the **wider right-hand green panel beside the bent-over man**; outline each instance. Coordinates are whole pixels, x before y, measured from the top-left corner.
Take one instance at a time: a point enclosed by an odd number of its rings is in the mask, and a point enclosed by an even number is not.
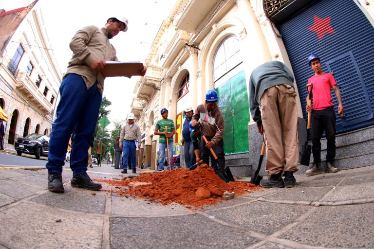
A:
[[[244,71],[230,79],[235,153],[248,152],[249,104]]]

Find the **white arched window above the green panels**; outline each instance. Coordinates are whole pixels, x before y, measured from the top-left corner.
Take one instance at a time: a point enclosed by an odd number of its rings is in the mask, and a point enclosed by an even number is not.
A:
[[[213,80],[216,81],[231,69],[242,62],[240,56],[239,40],[236,36],[226,38],[216,54],[213,61]]]

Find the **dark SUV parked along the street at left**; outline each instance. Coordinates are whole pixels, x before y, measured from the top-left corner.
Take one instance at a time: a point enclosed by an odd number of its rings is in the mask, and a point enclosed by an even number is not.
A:
[[[18,138],[14,147],[19,156],[22,153],[26,153],[35,155],[36,159],[39,159],[41,156],[48,157],[49,136],[31,133],[24,138]]]

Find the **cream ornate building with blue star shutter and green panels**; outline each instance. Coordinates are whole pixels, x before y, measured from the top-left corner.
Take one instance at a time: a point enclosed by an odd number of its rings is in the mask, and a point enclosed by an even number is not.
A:
[[[337,114],[337,167],[374,164],[373,59],[367,49],[374,41],[373,20],[373,4],[366,0],[178,0],[153,41],[147,74],[134,89],[131,111],[143,132],[139,158],[145,155],[155,168],[153,130],[163,107],[177,128],[178,154],[183,109],[195,108],[206,90],[215,89],[225,120],[227,164],[236,176],[250,175],[262,138],[249,114],[248,81],[251,71],[269,60],[284,62],[295,74],[303,144],[305,84],[314,74],[307,57],[317,53],[322,69],[337,80],[345,110],[344,117]],[[365,151],[358,150],[362,146]]]

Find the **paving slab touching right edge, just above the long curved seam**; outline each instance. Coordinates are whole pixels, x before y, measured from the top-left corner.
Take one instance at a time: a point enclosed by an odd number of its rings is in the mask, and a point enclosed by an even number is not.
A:
[[[373,182],[339,186],[323,201],[344,201],[374,197]]]

